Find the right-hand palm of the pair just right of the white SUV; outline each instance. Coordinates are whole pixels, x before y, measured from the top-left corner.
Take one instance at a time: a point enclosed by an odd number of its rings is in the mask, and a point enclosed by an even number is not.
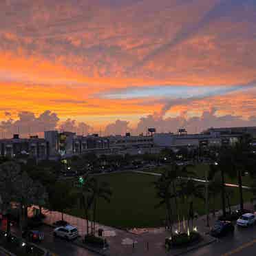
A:
[[[92,178],[89,187],[92,191],[92,204],[93,204],[93,225],[92,225],[92,233],[95,233],[95,222],[96,222],[96,211],[97,204],[100,198],[103,200],[110,202],[110,197],[112,195],[111,189],[107,182],[99,182],[96,178]]]

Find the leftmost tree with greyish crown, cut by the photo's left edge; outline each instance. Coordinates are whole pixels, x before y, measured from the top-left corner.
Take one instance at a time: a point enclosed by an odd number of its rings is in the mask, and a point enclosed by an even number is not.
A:
[[[15,162],[4,162],[0,165],[0,195],[1,209],[7,217],[7,233],[10,235],[10,203],[16,200],[17,181],[21,175],[19,164]]]

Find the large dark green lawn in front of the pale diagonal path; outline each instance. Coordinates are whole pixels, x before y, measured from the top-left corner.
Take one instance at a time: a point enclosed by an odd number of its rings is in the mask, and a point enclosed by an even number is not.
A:
[[[98,176],[101,181],[109,182],[113,195],[108,204],[100,200],[98,205],[97,221],[108,226],[120,228],[153,227],[162,226],[164,220],[164,209],[155,209],[159,200],[153,181],[158,177],[139,173],[109,173]],[[238,189],[228,188],[233,191],[231,204],[239,204]],[[252,193],[244,191],[244,202],[250,201]],[[220,209],[220,195],[217,195],[216,209]],[[205,214],[204,202],[198,198],[193,200],[195,212],[199,215]],[[187,215],[189,203],[180,204],[183,215]],[[80,217],[83,212],[78,209],[67,211]]]

